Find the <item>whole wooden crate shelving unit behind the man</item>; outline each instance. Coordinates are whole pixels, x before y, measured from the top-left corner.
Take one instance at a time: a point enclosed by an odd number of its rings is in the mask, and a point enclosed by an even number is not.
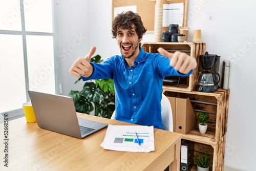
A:
[[[204,43],[194,42],[144,42],[142,48],[145,52],[158,53],[157,49],[162,47],[169,52],[177,50],[185,52],[197,61],[199,55],[205,52]],[[199,65],[198,65],[199,66]],[[182,139],[194,142],[193,155],[206,153],[211,155],[212,165],[210,170],[223,171],[225,138],[227,131],[227,116],[229,103],[229,90],[217,89],[215,92],[197,92],[194,88],[197,83],[198,68],[194,70],[185,85],[180,87],[163,85],[163,94],[169,97],[189,98],[196,115],[200,112],[207,112],[210,115],[208,129],[205,134],[201,134],[196,126],[187,134],[183,134]],[[174,125],[175,127],[175,125]],[[196,164],[191,170],[197,170]]]

